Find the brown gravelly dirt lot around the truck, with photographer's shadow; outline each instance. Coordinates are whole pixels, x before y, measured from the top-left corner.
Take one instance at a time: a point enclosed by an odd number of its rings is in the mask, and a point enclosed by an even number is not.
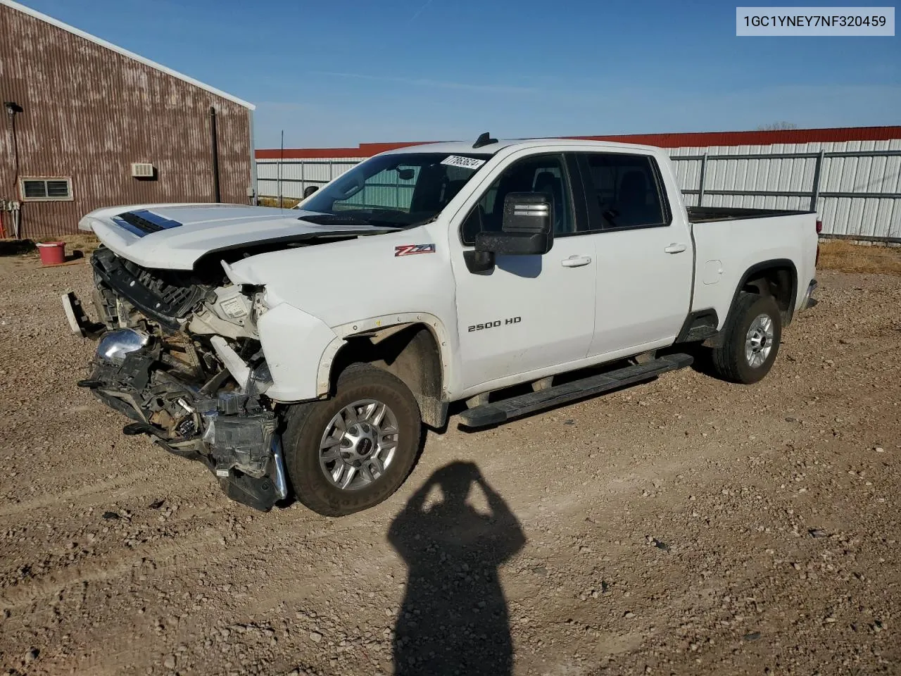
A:
[[[758,386],[684,370],[493,431],[452,420],[396,496],[327,519],[230,503],[120,434],[74,385],[92,347],[59,294],[86,263],[0,259],[0,663],[901,673],[901,278],[820,281]],[[432,478],[471,488],[454,461],[478,465],[478,512],[418,508]]]

